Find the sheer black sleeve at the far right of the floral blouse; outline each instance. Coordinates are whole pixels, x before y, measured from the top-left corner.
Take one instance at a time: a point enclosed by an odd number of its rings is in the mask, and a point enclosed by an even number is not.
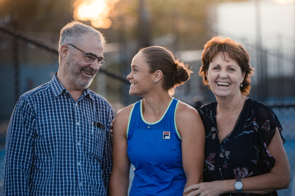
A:
[[[270,154],[267,147],[271,143],[271,140],[276,132],[276,128],[278,128],[280,132],[282,143],[285,142],[285,139],[281,135],[282,126],[275,113],[269,107],[262,105],[259,107],[257,113],[257,128],[260,143],[261,163],[263,165],[262,169],[265,170],[265,172],[269,172],[274,166],[275,159]]]

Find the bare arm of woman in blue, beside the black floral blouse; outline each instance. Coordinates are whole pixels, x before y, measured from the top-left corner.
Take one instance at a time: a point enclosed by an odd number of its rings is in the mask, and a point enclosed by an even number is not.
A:
[[[177,107],[176,125],[181,136],[182,164],[186,175],[184,188],[186,188],[203,181],[205,130],[199,113],[182,102]]]

